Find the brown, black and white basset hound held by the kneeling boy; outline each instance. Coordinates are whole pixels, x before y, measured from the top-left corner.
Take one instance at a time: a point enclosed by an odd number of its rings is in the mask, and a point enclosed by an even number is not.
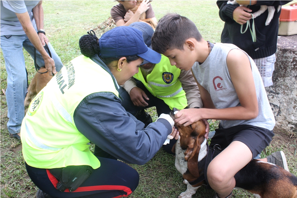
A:
[[[176,111],[178,109],[173,108],[170,113],[173,120]],[[189,126],[175,127],[179,131],[179,138],[173,148],[175,166],[183,175],[183,183],[187,184],[187,190],[178,198],[191,198],[202,184],[207,184],[205,170],[211,150],[204,137],[206,126],[200,120]],[[253,159],[234,178],[236,188],[248,190],[258,198],[297,198],[297,177],[275,164]]]

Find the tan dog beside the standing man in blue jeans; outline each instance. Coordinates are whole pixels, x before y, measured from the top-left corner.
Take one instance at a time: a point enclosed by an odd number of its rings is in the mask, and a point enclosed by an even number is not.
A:
[[[45,69],[45,67],[41,67],[38,71],[40,73],[43,73],[48,70]],[[53,77],[53,76],[48,75],[48,72],[46,72],[44,74],[40,74],[39,72],[36,72],[35,76],[32,78],[31,83],[28,87],[28,93],[27,93],[27,96],[26,96],[25,102],[24,102],[25,106],[30,104],[33,97],[36,94],[38,94],[45,87],[45,85],[48,84],[50,79],[52,79],[52,77]]]

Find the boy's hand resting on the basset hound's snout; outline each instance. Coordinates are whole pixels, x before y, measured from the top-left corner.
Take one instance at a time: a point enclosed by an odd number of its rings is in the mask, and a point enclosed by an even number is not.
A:
[[[199,113],[200,111],[201,109],[195,109],[195,108],[180,110],[178,113],[174,115],[175,117],[174,122],[176,123],[176,125],[188,126],[202,119]]]

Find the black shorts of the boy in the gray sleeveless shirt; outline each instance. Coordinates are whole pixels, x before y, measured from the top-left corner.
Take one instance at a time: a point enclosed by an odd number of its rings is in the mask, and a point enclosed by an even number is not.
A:
[[[249,124],[232,126],[227,129],[222,129],[219,125],[219,129],[215,131],[214,137],[211,138],[210,148],[218,144],[222,149],[225,149],[231,142],[239,141],[252,151],[252,159],[269,145],[274,136],[273,131]]]

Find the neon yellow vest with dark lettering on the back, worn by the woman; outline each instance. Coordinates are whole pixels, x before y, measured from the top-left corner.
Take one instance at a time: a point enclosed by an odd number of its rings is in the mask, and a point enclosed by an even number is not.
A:
[[[90,58],[78,56],[67,63],[32,100],[21,126],[23,156],[37,168],[60,168],[100,162],[75,126],[78,104],[96,92],[119,96],[112,77]]]

